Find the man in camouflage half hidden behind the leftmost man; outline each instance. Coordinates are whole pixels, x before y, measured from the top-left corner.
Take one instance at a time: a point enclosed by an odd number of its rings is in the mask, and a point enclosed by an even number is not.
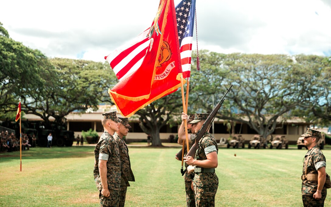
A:
[[[125,204],[125,197],[126,197],[126,190],[127,187],[130,186],[128,181],[135,181],[134,175],[131,170],[131,163],[130,163],[130,157],[129,157],[129,149],[127,148],[127,145],[125,141],[123,140],[123,135],[125,136],[127,134],[123,134],[125,132],[121,131],[121,127],[131,128],[128,122],[128,118],[119,118],[120,124],[123,126],[120,126],[119,131],[115,132],[114,138],[118,144],[119,154],[121,157],[121,165],[122,165],[122,175],[121,175],[121,184],[120,184],[120,197],[119,197],[119,207],[123,207]],[[121,136],[122,135],[122,136]]]

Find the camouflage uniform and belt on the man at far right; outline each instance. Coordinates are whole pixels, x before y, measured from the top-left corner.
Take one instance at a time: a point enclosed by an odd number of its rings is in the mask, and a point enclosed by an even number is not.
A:
[[[303,175],[305,175],[305,171],[306,171],[305,162],[306,162],[307,158],[309,159],[308,163],[307,163],[307,174],[310,174],[310,173],[318,174],[316,169],[326,166],[326,160],[325,160],[325,157],[324,157],[322,151],[317,146],[314,146],[307,152],[307,154],[304,158],[304,166],[303,166],[303,170],[302,170]],[[326,187],[325,186],[323,186],[323,189],[321,192],[322,197],[318,200],[313,198],[313,194],[317,190],[317,184],[318,184],[317,181],[307,181],[307,180],[302,181],[302,188],[301,188],[302,201],[303,201],[305,207],[324,206],[324,200],[326,197]]]

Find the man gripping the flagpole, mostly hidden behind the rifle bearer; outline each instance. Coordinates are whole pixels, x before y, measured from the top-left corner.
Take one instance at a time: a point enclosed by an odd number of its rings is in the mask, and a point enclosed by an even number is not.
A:
[[[185,113],[183,113],[183,115],[187,116]],[[190,116],[187,119],[187,123],[193,121],[194,119],[194,114],[190,114]],[[188,129],[191,129],[192,131],[192,125],[188,124]],[[179,129],[178,129],[178,144],[182,145],[182,140],[180,139],[180,137],[184,137],[186,139],[186,135],[185,135],[185,129],[184,129],[184,121],[182,121],[182,124],[180,125]],[[183,133],[184,132],[184,133]],[[192,131],[193,134],[189,135],[189,147],[191,148],[192,145],[195,142],[195,132]],[[187,154],[187,151],[185,151],[185,155]],[[178,156],[182,156],[182,155],[177,155]],[[191,175],[187,173],[187,164],[185,163],[185,174],[184,174],[184,181],[185,181],[185,192],[186,192],[186,206],[187,207],[195,207],[195,199],[194,199],[194,191],[191,188],[192,185],[192,178]]]

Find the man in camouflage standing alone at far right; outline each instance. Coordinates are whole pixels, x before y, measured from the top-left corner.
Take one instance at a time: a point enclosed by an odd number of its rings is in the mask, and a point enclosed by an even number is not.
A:
[[[309,129],[305,134],[302,134],[301,136],[305,137],[305,145],[310,144],[312,141],[307,140],[310,138],[310,136],[317,136],[320,137],[320,132],[314,129]],[[317,144],[316,140],[316,144]],[[314,145],[315,143],[312,143],[311,145]],[[307,146],[308,149],[310,148]],[[308,160],[307,160],[308,159]],[[313,197],[314,193],[317,191],[318,187],[318,181],[307,181],[307,174],[315,174],[316,176],[318,175],[318,169],[326,166],[326,160],[325,157],[322,153],[322,151],[316,146],[312,146],[305,155],[305,158],[303,160],[304,165],[303,165],[303,176],[302,176],[302,201],[304,204],[304,207],[308,206],[324,206],[324,200],[326,198],[326,187],[323,186],[321,189],[321,198],[320,199],[315,199]],[[306,173],[306,163],[307,163],[307,174]],[[325,169],[324,169],[325,171]]]

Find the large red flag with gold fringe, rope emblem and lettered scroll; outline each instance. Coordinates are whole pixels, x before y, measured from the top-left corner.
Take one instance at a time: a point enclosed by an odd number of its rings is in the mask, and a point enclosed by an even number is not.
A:
[[[177,90],[182,76],[173,0],[161,0],[147,32],[148,46],[141,66],[122,78],[108,93],[125,117]]]

